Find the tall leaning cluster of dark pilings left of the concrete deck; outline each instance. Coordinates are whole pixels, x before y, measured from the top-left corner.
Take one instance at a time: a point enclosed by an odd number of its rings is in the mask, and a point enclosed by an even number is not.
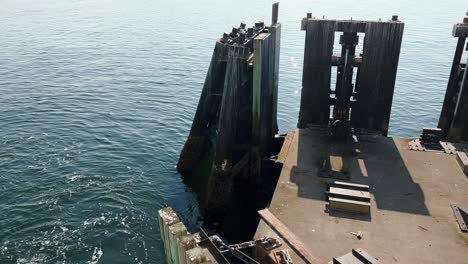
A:
[[[236,182],[256,184],[278,132],[281,25],[245,24],[216,41],[192,128],[177,170],[190,174],[214,150],[205,220],[222,223]]]

